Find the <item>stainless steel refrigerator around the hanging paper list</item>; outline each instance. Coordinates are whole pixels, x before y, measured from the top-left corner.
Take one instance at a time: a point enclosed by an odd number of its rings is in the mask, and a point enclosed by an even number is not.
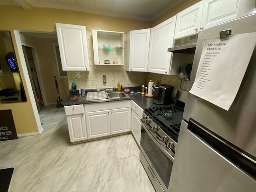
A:
[[[256,14],[199,32],[188,90],[204,40],[224,30],[231,30],[230,40],[256,32]],[[183,118],[169,191],[256,192],[256,48],[228,111],[188,92]]]

